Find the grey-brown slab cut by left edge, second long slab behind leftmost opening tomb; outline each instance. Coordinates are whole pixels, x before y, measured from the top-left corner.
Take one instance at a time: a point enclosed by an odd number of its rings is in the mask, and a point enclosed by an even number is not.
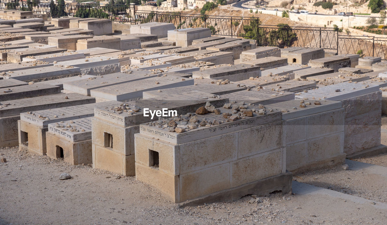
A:
[[[59,94],[58,86],[31,84],[8,88],[0,88],[0,101],[10,101],[22,98],[31,98],[50,94]]]

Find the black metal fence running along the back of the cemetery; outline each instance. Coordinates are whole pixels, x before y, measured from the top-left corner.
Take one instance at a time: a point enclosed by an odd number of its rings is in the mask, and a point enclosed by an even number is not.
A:
[[[207,27],[213,35],[252,39],[257,41],[258,46],[324,48],[338,54],[359,54],[387,60],[387,38],[341,35],[337,28],[264,25],[257,17],[142,11],[135,10],[134,5],[58,4],[38,0],[0,0],[0,9],[33,11],[53,18],[106,18],[130,24],[168,22],[173,23],[176,29]]]

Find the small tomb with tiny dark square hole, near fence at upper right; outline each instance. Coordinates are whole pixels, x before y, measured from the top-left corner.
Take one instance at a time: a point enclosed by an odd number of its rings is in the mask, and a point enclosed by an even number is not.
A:
[[[322,48],[304,48],[288,53],[288,63],[307,65],[309,60],[324,58]]]

